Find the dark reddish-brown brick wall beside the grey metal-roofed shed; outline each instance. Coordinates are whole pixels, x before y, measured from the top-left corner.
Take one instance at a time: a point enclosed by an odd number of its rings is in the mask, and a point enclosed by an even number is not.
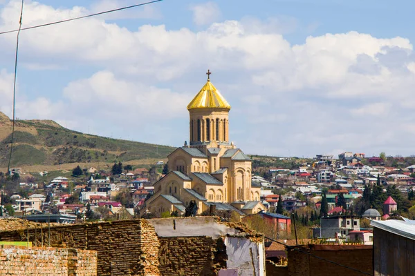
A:
[[[317,257],[329,259],[332,262],[373,273],[373,249],[371,246],[319,246],[313,245],[302,247],[301,250],[307,251]],[[324,269],[322,269],[324,268]],[[310,275],[310,276],[354,276],[362,273],[331,264],[322,259],[317,259],[306,253],[297,250],[288,250],[288,275]]]

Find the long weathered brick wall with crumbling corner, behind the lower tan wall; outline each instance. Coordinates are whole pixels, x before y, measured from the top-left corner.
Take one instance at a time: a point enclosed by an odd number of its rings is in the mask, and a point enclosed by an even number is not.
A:
[[[79,248],[98,253],[98,275],[159,275],[158,238],[145,219],[30,228],[34,245]],[[27,231],[0,233],[1,241],[26,241]]]

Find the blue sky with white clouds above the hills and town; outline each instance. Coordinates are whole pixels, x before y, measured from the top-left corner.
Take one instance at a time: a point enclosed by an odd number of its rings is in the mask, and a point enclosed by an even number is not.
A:
[[[145,0],[144,0],[145,1]],[[25,1],[23,27],[143,1]],[[21,1],[0,0],[0,32]],[[252,155],[415,155],[414,1],[164,0],[19,40],[16,117],[183,146],[205,72]],[[0,111],[12,116],[16,33],[0,34]]]

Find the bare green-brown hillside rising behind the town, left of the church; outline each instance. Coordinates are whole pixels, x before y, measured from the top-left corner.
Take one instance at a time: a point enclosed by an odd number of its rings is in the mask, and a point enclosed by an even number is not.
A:
[[[0,168],[8,163],[11,126],[10,119],[0,112]],[[51,120],[18,120],[12,166],[164,159],[173,150],[169,146],[86,135]]]

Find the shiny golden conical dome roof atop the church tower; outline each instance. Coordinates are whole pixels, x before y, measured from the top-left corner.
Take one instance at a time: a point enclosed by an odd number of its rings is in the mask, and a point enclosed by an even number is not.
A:
[[[187,109],[196,108],[227,108],[230,109],[228,101],[223,98],[219,90],[208,79],[208,82],[197,93],[196,97],[190,101]]]

